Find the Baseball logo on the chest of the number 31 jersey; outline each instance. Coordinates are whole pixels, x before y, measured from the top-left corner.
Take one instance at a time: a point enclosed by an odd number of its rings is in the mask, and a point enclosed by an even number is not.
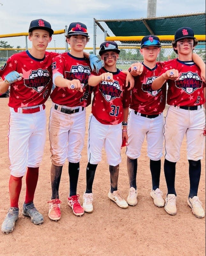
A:
[[[108,102],[110,100],[120,97],[122,93],[122,90],[120,90],[120,88],[121,87],[117,81],[114,81],[114,83],[102,81],[99,86],[100,92],[102,92],[102,95]]]

